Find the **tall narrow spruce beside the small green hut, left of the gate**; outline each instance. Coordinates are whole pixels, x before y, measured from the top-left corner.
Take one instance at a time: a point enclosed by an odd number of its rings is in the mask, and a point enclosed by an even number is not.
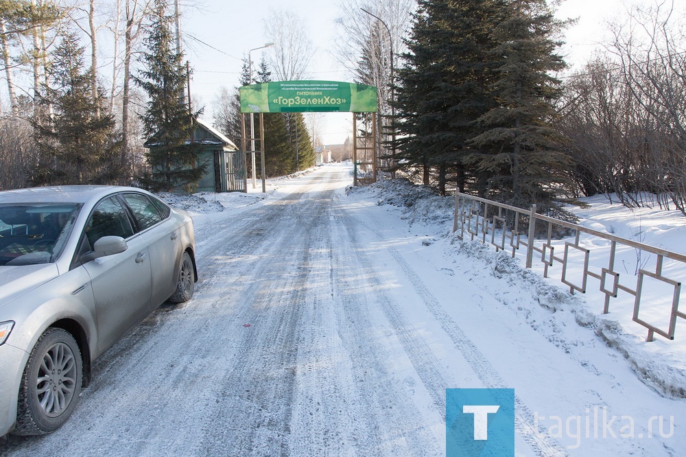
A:
[[[192,141],[202,110],[193,113],[186,103],[189,74],[183,54],[174,49],[174,16],[168,10],[168,0],[154,1],[144,39],[147,51],[141,59],[144,70],[133,78],[149,97],[141,116],[152,167],[147,184],[153,190],[193,191],[207,166],[198,162],[202,144]]]

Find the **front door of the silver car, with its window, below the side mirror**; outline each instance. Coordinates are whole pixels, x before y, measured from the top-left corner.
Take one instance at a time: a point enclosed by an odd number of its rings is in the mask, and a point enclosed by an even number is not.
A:
[[[95,298],[97,348],[104,351],[150,312],[151,270],[147,241],[134,229],[121,202],[113,196],[97,204],[84,235],[93,247],[100,237],[126,239],[128,248],[84,263]]]

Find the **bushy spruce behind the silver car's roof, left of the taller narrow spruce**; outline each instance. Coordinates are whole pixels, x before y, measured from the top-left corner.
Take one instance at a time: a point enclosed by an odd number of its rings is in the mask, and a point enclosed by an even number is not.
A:
[[[44,85],[38,97],[38,104],[52,106],[54,114],[32,119],[40,150],[34,185],[106,184],[119,178],[114,115],[107,114],[102,89],[93,99],[91,71],[84,66],[78,36],[64,36],[49,67],[50,86]]]

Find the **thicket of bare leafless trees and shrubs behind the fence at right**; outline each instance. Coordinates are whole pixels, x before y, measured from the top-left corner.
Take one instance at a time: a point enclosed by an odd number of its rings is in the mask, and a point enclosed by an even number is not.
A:
[[[681,7],[683,14],[683,6]],[[606,55],[570,78],[560,128],[583,194],[686,214],[686,36],[673,1],[611,24]]]

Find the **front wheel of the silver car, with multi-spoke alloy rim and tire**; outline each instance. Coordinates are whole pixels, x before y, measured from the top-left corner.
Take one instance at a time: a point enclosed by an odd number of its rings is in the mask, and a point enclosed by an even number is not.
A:
[[[47,329],[24,368],[12,434],[42,435],[57,430],[76,408],[82,378],[81,351],[74,338],[62,329]]]

